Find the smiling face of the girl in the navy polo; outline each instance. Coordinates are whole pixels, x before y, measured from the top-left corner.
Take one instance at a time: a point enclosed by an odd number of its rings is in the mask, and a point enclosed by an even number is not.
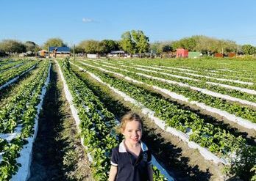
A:
[[[125,125],[123,135],[126,141],[128,141],[129,144],[138,144],[138,142],[141,140],[142,136],[142,128],[141,128],[141,122],[138,121],[131,121],[127,122],[127,125]]]

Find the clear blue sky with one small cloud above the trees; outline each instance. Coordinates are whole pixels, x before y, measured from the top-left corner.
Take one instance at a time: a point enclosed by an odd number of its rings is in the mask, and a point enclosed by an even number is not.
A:
[[[151,43],[205,35],[256,46],[255,18],[255,0],[1,0],[0,40],[73,45],[140,29]]]

